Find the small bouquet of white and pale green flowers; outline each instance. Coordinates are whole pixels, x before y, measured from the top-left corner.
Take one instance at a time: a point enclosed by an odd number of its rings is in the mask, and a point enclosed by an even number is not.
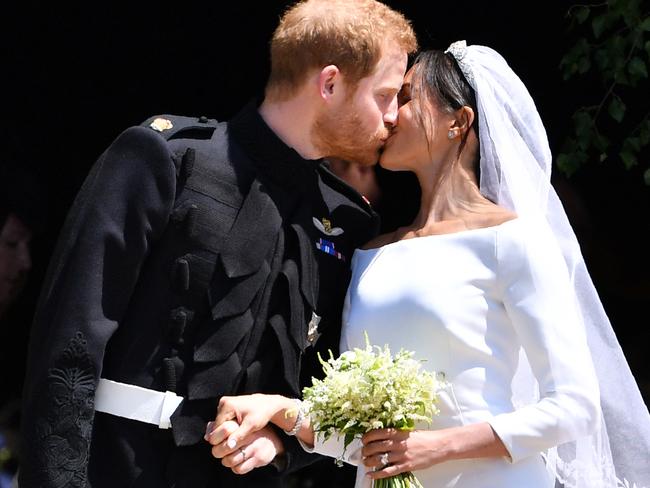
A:
[[[400,349],[391,355],[387,345],[371,346],[366,335],[365,349],[355,348],[323,361],[325,377],[312,379],[303,389],[303,408],[312,428],[325,439],[344,436],[347,447],[352,439],[372,429],[393,427],[413,430],[417,422],[431,422],[438,414],[438,393],[445,386],[440,373],[421,371],[421,361]],[[337,460],[341,463],[340,459]],[[413,473],[375,481],[380,487],[421,487]]]

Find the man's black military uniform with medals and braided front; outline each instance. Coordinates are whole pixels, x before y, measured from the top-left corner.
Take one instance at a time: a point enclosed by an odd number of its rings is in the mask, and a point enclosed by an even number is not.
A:
[[[205,425],[225,394],[299,396],[316,350],[338,343],[352,252],[377,230],[254,103],[227,123],[127,129],[85,181],[42,290],[21,488],[280,486],[271,466],[224,468]],[[100,377],[183,396],[171,430],[96,413]],[[317,459],[283,440],[285,473]]]

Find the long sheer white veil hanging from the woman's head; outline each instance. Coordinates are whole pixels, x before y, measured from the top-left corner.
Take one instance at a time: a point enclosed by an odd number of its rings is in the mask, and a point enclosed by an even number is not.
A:
[[[458,41],[445,52],[454,56],[476,93],[481,192],[520,216],[538,217],[552,230],[573,280],[598,375],[600,428],[545,453],[547,468],[565,488],[650,488],[650,415],[551,186],[552,156],[537,108],[496,51]],[[515,405],[537,401],[525,355],[513,392]]]

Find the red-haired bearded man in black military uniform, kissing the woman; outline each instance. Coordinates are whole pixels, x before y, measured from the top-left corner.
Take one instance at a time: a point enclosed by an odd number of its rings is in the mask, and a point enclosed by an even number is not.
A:
[[[415,49],[376,0],[305,0],[273,36],[261,103],[152,117],[106,149],[36,311],[21,488],[273,487],[314,460],[268,428],[247,440],[261,468],[238,476],[205,425],[222,395],[296,396],[337,343],[377,221],[320,158],[376,162]]]

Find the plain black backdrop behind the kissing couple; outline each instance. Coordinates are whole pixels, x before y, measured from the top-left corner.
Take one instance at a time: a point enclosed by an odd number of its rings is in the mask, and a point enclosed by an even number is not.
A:
[[[99,153],[153,114],[232,115],[262,90],[268,40],[288,3],[26,1],[4,7],[1,159],[34,176],[38,191],[29,201],[46,216],[34,240],[30,283],[14,307],[15,374],[58,230]],[[560,59],[574,40],[565,14],[573,2],[386,3],[412,20],[424,48],[466,39],[498,50],[536,100],[554,154],[572,112],[599,93],[594,84],[562,81]],[[408,183],[402,177],[386,187],[404,208],[413,204]],[[554,184],[648,403],[650,187],[638,171],[596,163],[570,180],[557,174]],[[386,222],[396,224],[396,215],[386,214]]]

